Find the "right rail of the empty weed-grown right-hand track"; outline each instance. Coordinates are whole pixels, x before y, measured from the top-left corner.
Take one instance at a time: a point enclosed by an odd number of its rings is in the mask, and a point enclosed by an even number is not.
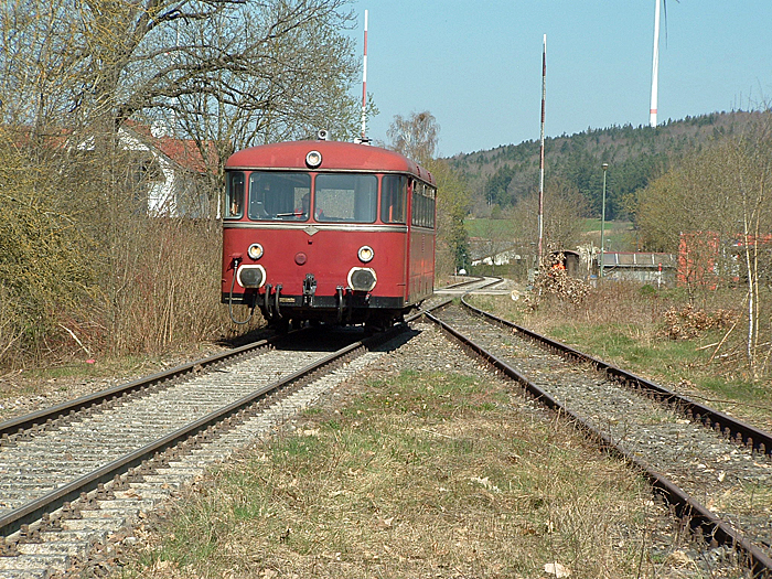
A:
[[[673,405],[674,407],[679,408],[689,419],[693,419],[697,422],[701,422],[707,428],[711,428],[716,431],[721,432],[727,438],[731,438],[739,444],[746,444],[749,448],[761,452],[762,454],[772,454],[772,435],[770,435],[769,432],[765,432],[754,426],[743,422],[742,420],[738,420],[737,418],[732,418],[731,416],[715,410],[708,406],[705,406],[704,404],[693,400],[687,396],[683,396],[678,393],[669,390],[652,380],[642,378],[641,376],[621,369],[589,354],[585,354],[583,352],[575,350],[571,346],[562,344],[556,340],[551,340],[547,336],[537,334],[536,332],[517,325],[516,323],[503,320],[493,315],[492,313],[480,310],[479,308],[471,305],[463,298],[461,300],[461,303],[464,305],[464,308],[468,308],[475,314],[481,315],[502,326],[512,329],[521,334],[528,336],[529,339],[536,342],[546,344],[550,350],[560,355],[591,364],[596,367],[596,369],[604,372],[611,379],[615,382],[619,382],[632,388],[641,388],[642,390],[652,394],[658,400],[666,401]]]

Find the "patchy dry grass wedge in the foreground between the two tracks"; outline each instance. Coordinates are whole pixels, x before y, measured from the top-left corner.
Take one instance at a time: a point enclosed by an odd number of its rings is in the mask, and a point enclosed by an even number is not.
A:
[[[654,576],[646,485],[502,383],[403,372],[343,400],[195,484],[116,577]]]

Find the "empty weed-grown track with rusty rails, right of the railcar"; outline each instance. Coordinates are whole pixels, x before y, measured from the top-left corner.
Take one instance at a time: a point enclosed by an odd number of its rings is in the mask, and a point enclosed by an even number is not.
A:
[[[769,433],[467,303],[429,317],[635,464],[708,542],[772,577]]]

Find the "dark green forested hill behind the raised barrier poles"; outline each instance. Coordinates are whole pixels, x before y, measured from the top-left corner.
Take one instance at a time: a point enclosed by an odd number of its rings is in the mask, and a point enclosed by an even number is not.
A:
[[[592,214],[600,215],[601,165],[609,163],[607,218],[623,217],[624,200],[663,174],[674,160],[714,139],[742,132],[754,117],[753,112],[715,112],[656,128],[625,125],[546,139],[545,191],[576,189],[587,197]],[[469,182],[476,215],[506,210],[538,190],[538,140],[460,154],[450,163]]]

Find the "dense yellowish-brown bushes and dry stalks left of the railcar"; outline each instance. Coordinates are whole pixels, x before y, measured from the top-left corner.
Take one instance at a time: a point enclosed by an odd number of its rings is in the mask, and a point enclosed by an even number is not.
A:
[[[135,153],[107,163],[52,140],[0,130],[0,367],[234,332],[219,303],[219,222],[151,217]]]

